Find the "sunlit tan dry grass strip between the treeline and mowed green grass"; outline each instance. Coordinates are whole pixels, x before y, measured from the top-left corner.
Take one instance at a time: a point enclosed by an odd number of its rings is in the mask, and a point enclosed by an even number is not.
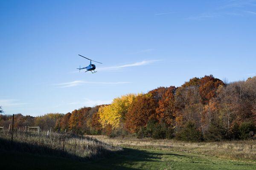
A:
[[[102,142],[113,143],[116,146],[140,149],[169,150],[176,152],[195,153],[204,156],[214,156],[222,159],[234,159],[256,162],[256,141],[223,141],[223,142],[182,142],[169,139],[137,139],[116,138],[108,136],[92,136]]]

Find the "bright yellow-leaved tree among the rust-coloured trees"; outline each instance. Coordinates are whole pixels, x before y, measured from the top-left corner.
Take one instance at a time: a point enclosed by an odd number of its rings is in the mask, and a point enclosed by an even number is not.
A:
[[[123,128],[125,114],[128,112],[129,106],[136,96],[136,94],[127,94],[117,97],[113,99],[113,102],[110,105],[105,105],[99,108],[99,121],[102,124],[102,127],[111,125],[112,128]]]

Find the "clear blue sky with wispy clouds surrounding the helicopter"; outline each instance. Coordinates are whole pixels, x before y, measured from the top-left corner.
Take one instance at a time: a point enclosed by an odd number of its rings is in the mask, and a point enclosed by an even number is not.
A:
[[[256,75],[256,0],[0,1],[0,105],[67,113],[213,74]],[[102,62],[96,74],[77,72]]]

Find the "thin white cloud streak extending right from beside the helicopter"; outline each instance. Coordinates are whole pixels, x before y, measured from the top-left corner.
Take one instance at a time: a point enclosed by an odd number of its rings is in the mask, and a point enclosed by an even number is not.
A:
[[[131,63],[131,64],[99,68],[99,70],[104,70],[104,71],[119,70],[121,68],[126,68],[126,67],[136,67],[136,66],[141,66],[141,65],[150,65],[150,64],[153,64],[153,63],[158,62],[158,61],[160,61],[160,60],[144,60],[144,61],[141,61],[141,62],[134,62],[134,63]]]

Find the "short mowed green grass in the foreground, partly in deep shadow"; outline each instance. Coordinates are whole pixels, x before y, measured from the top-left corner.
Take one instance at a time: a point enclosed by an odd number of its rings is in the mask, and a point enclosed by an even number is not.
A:
[[[26,170],[256,170],[256,163],[229,161],[188,153],[125,148],[97,161],[0,151],[1,169]]]

